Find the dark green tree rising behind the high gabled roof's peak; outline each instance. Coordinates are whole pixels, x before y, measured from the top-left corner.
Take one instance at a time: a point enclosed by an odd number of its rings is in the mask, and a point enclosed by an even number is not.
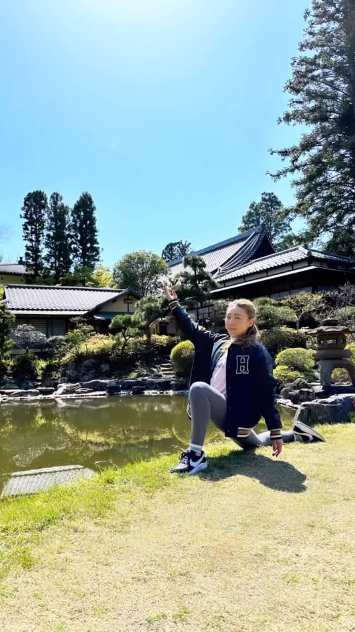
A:
[[[262,193],[260,202],[251,205],[242,217],[239,231],[266,226],[270,241],[276,250],[283,250],[294,245],[294,235],[290,231],[289,212],[284,209],[275,193]],[[287,243],[286,243],[287,240]]]

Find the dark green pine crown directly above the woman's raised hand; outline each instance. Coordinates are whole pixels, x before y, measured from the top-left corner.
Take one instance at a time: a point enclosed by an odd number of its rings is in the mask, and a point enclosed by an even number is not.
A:
[[[184,271],[176,279],[179,300],[188,308],[198,306],[210,298],[210,290],[217,283],[207,272],[205,261],[197,255],[186,255],[183,259]]]

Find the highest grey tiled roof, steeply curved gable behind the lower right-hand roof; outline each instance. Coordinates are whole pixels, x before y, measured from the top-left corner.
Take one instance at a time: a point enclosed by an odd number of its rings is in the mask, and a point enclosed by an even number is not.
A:
[[[215,243],[207,248],[202,248],[202,250],[196,250],[196,252],[190,254],[202,257],[205,261],[207,271],[212,274],[219,267],[231,260],[232,257],[238,258],[238,252],[243,252],[244,257],[248,256],[248,246],[253,248],[256,243],[257,245],[260,245],[265,234],[266,231],[263,227],[253,228],[250,231],[246,231],[246,233],[241,233],[231,237],[230,239],[219,241],[219,243]],[[249,253],[249,257],[250,256],[252,255]],[[184,270],[183,259],[179,258],[171,261],[169,263],[169,268],[170,276],[180,274],[180,272],[183,272]]]

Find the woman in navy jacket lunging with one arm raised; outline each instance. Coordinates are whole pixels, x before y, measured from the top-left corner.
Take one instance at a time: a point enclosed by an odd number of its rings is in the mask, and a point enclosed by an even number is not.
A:
[[[325,441],[306,424],[297,422],[292,430],[281,430],[275,404],[277,384],[272,374],[272,358],[258,342],[255,305],[246,299],[229,303],[227,334],[212,334],[190,319],[179,305],[176,291],[164,286],[172,315],[179,328],[195,346],[190,376],[188,415],[191,418],[190,445],[171,472],[195,474],[207,468],[203,442],[208,421],[244,449],[272,446],[279,456],[285,443]],[[268,432],[253,428],[263,416]]]

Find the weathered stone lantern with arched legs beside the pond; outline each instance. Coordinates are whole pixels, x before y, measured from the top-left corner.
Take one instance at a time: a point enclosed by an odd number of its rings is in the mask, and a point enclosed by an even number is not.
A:
[[[332,372],[335,368],[345,368],[349,373],[352,385],[355,386],[355,367],[350,362],[351,351],[346,349],[346,334],[354,330],[339,325],[339,320],[322,320],[322,326],[309,332],[316,336],[317,348],[315,360],[320,367],[320,382],[324,387],[332,384]]]

